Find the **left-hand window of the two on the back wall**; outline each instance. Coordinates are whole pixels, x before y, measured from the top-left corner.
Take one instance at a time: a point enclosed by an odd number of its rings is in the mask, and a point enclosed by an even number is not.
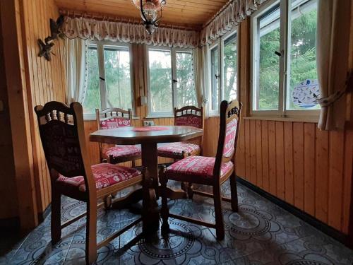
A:
[[[88,47],[88,84],[83,100],[85,117],[95,109],[132,108],[130,52],[127,45],[91,42]]]

